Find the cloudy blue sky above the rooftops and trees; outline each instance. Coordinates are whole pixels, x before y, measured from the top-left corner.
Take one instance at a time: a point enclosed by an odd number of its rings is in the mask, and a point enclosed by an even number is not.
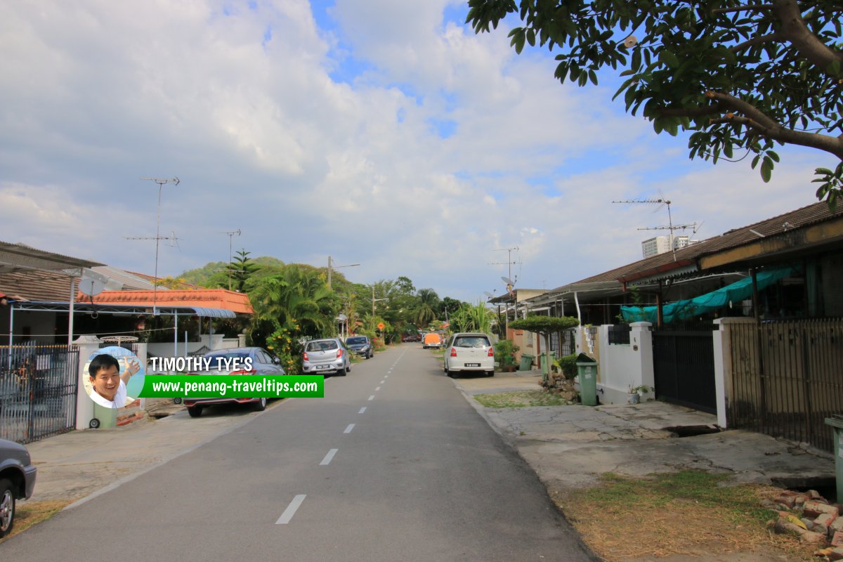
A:
[[[450,0],[3,3],[0,239],[152,273],[165,186],[164,275],[234,249],[359,263],[352,281],[409,276],[440,296],[560,286],[639,259],[639,231],[699,236],[813,201],[821,153],[687,158],[612,102],[618,80],[561,85],[546,50],[507,25],[475,35]],[[622,39],[622,38],[621,38]]]

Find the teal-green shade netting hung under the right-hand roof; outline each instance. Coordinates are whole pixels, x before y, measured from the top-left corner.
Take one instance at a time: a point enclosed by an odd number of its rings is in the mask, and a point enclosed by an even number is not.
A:
[[[797,265],[788,265],[775,270],[759,271],[755,278],[758,283],[758,290],[771,286],[776,281],[792,276],[800,268]],[[695,318],[705,313],[710,313],[720,308],[728,307],[729,302],[740,302],[752,297],[752,276],[746,276],[740,281],[707,292],[700,297],[685,299],[682,301],[669,302],[662,307],[663,321],[665,324],[674,320],[686,320]],[[656,324],[658,320],[657,307],[620,307],[626,322],[650,322]]]

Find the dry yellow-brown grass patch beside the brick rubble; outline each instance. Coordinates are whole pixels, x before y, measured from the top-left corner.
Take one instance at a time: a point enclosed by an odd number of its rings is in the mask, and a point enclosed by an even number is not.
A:
[[[607,562],[643,556],[703,556],[732,552],[787,554],[808,560],[817,547],[772,534],[774,516],[760,500],[781,490],[723,485],[727,474],[682,470],[628,478],[604,474],[600,484],[551,494],[583,540]],[[771,556],[772,557],[772,556]]]

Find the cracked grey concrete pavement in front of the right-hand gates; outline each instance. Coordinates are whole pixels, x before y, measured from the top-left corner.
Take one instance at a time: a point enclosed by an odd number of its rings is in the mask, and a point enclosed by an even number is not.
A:
[[[537,390],[540,380],[540,372],[532,371],[458,378],[455,383],[470,398]],[[674,404],[490,409],[469,401],[513,443],[551,490],[587,487],[609,472],[643,476],[682,468],[732,474],[741,483],[793,487],[834,483],[835,463],[830,454],[771,436],[729,430],[677,438],[678,433],[685,433],[681,428],[689,433],[713,428],[717,417]]]

